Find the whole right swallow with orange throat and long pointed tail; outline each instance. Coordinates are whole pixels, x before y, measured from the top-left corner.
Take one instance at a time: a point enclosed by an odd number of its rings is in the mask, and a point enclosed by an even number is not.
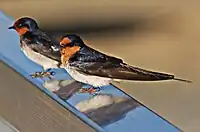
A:
[[[92,87],[101,87],[113,81],[161,81],[178,80],[174,75],[153,72],[134,67],[123,62],[122,59],[108,56],[89,46],[77,35],[66,35],[60,41],[61,62],[78,82],[89,84]]]

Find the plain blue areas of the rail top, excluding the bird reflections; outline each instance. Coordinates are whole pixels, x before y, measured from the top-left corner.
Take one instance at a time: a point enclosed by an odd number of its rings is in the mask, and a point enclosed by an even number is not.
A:
[[[55,94],[52,94],[47,89],[42,87],[41,79],[32,79],[29,74],[35,71],[41,71],[42,68],[30,61],[24,54],[19,50],[19,36],[15,31],[9,31],[8,27],[12,24],[12,20],[0,12],[0,58],[7,64],[14,67],[19,73],[24,75],[28,80],[35,83],[45,93],[50,95],[53,99],[58,101],[60,104],[71,110],[78,117],[82,118],[89,125],[96,128],[98,131],[114,131],[114,132],[178,132],[179,130],[162,118],[155,115],[143,106],[140,106],[130,111],[125,118],[104,126],[103,128],[88,119],[84,114],[77,111],[73,105],[80,102],[81,100],[88,99],[88,94],[75,94],[66,103],[59,99]],[[63,70],[57,70],[56,74],[59,79],[70,79],[68,74]],[[113,86],[103,88],[103,93],[112,93],[116,96],[127,96],[120,90]]]

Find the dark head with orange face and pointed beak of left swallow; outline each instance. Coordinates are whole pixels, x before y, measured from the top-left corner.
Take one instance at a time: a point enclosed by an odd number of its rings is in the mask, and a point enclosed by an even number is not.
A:
[[[34,19],[29,17],[22,17],[17,19],[14,24],[8,29],[14,29],[20,36],[22,36],[27,32],[34,32],[38,28],[39,27],[37,25],[37,22]]]

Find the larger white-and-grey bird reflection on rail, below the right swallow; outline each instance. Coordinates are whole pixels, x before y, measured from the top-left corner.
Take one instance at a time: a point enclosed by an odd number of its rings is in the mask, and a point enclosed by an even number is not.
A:
[[[131,98],[99,94],[78,103],[76,108],[97,124],[104,126],[123,119],[129,111],[139,106],[140,104]]]

